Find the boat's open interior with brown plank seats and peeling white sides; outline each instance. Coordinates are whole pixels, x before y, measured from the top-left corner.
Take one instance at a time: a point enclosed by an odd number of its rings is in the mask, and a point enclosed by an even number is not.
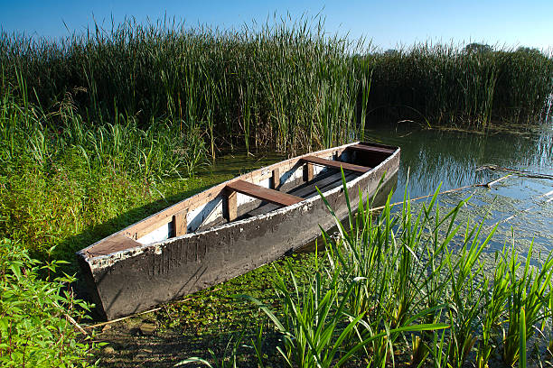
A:
[[[395,151],[375,143],[351,143],[280,161],[186,198],[82,252],[94,258],[262,216],[318,196],[317,189],[324,193],[341,186],[341,168],[349,181]]]

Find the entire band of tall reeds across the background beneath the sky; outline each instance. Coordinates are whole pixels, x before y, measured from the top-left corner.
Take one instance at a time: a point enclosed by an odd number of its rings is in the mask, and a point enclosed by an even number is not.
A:
[[[237,144],[332,146],[362,138],[367,118],[483,127],[547,114],[553,61],[540,51],[369,46],[329,35],[316,17],[238,30],[129,19],[56,41],[4,32],[2,89],[49,113],[70,97],[92,124],[117,114],[140,127],[185,122],[206,133],[212,157]]]

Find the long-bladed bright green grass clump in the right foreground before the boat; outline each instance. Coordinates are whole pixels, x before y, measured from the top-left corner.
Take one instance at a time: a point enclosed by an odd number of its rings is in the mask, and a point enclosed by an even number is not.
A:
[[[530,336],[551,317],[552,255],[535,259],[530,250],[520,270],[520,255],[505,247],[496,272],[486,273],[493,230],[459,224],[465,202],[442,213],[436,194],[415,210],[406,192],[401,207],[388,201],[379,216],[361,202],[349,227],[336,219],[339,236],[324,235],[326,252],[302,263],[307,276],[298,263],[278,263],[274,293],[239,296],[266,314],[280,338],[263,350],[254,327],[243,327],[253,336],[249,352],[235,349],[226,362],[253,354],[259,366],[269,363],[265,356],[290,367],[526,366]],[[546,354],[545,335],[531,341]]]

